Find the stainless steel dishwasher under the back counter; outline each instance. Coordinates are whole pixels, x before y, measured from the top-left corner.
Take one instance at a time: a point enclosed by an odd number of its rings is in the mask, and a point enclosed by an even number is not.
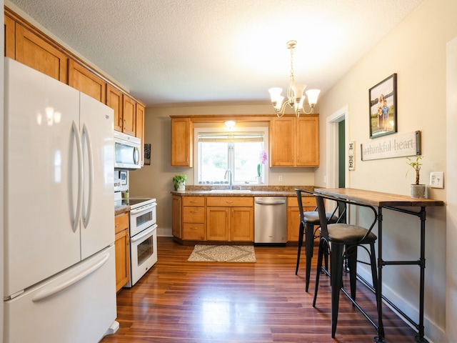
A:
[[[254,244],[287,242],[287,197],[254,197]]]

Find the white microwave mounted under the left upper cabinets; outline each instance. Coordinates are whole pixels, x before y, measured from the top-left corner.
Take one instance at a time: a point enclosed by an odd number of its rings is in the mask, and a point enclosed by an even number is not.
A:
[[[114,131],[114,168],[141,168],[141,139]]]

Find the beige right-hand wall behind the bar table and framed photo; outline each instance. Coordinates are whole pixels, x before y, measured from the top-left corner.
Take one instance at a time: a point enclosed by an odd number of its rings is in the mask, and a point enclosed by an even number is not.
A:
[[[348,172],[348,187],[410,192],[413,174],[405,177],[409,167],[404,157],[361,161],[360,156],[360,144],[370,141],[368,89],[393,73],[398,77],[398,134],[416,130],[422,134],[421,182],[428,184],[432,171],[446,171],[446,43],[457,36],[456,13],[455,0],[424,1],[321,98],[321,141],[326,139],[326,117],[348,106],[348,140],[356,141],[356,170]],[[321,145],[316,180],[325,176],[326,146]],[[430,189],[429,197],[446,200],[446,192],[452,192],[446,177],[450,175],[445,175],[445,188]],[[383,258],[416,259],[418,219],[383,214]],[[446,207],[427,209],[426,226],[426,335],[432,342],[457,342],[456,330],[446,330]],[[451,246],[456,249],[456,243]],[[412,266],[383,268],[385,294],[413,318],[418,312],[418,272]],[[456,297],[456,284],[448,287],[453,288],[448,294]],[[448,315],[453,316],[448,323],[457,322],[456,309]]]

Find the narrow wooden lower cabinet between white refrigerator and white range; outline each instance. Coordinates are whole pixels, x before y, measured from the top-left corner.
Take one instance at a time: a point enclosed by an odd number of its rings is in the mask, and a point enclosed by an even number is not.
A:
[[[130,242],[129,214],[114,217],[114,251],[116,254],[116,292],[129,282],[130,277]]]

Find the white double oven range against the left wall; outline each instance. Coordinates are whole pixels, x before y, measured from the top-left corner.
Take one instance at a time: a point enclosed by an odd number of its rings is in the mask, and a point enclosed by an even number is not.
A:
[[[154,198],[122,197],[129,187],[129,172],[114,172],[114,205],[129,206],[130,279],[132,287],[157,262],[157,222]]]

